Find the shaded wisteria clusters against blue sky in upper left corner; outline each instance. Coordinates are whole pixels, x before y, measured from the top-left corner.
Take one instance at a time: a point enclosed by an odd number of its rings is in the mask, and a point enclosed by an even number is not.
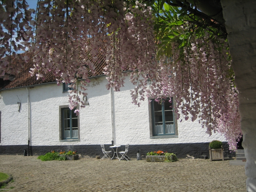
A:
[[[25,51],[22,43],[33,37],[32,26],[35,22],[31,14],[35,10],[27,8],[28,4],[23,0],[8,0],[0,4],[0,77],[4,80],[20,72],[23,67],[19,63],[13,65],[13,58],[29,61],[28,56],[17,54],[20,50]]]

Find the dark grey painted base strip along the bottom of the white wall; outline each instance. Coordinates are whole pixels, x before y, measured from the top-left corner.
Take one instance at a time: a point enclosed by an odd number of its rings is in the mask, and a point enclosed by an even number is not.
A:
[[[111,145],[105,145],[106,150]],[[195,158],[202,158],[202,155],[209,157],[209,143],[178,143],[178,144],[154,144],[154,145],[130,145],[128,156],[135,157],[137,151],[140,149],[141,155],[146,155],[150,151],[167,151],[174,153],[178,158],[185,158],[187,155],[194,156]],[[24,149],[28,151],[28,145],[5,145],[0,146],[0,155],[23,155]],[[125,146],[121,146],[117,151],[123,151]],[[223,142],[224,157],[236,156],[235,152],[230,152],[228,143]],[[77,151],[82,156],[103,156],[100,145],[61,145],[61,146],[30,146],[30,155],[44,155],[50,151]]]

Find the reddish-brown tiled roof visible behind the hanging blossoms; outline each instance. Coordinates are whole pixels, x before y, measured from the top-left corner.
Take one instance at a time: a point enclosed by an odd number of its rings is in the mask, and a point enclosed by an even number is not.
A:
[[[21,69],[20,73],[17,73],[14,76],[14,79],[12,81],[5,81],[5,83],[1,83],[0,90],[56,82],[56,77],[51,72],[45,74],[44,81],[42,79],[36,80],[36,76],[31,76],[31,73],[29,73],[29,71],[30,68],[34,67],[34,62],[32,60],[33,53],[28,53],[27,55],[30,58],[30,61],[28,63],[26,63],[24,60],[14,59],[14,64],[20,62],[24,66],[24,68]],[[99,60],[100,62],[94,64],[96,67],[95,76],[103,75],[103,68],[106,66],[106,63],[103,60],[102,56],[99,56]],[[93,75],[92,73],[89,73],[88,76],[92,77]],[[6,82],[10,83],[6,84]]]

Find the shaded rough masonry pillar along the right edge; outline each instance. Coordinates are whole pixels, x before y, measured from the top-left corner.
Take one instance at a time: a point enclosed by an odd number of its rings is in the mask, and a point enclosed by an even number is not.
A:
[[[238,90],[248,192],[256,191],[256,1],[221,0]]]

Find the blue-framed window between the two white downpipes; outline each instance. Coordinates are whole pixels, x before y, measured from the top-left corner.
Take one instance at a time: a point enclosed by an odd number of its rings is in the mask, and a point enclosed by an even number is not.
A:
[[[78,139],[78,116],[69,108],[61,109],[62,137],[63,139]]]

